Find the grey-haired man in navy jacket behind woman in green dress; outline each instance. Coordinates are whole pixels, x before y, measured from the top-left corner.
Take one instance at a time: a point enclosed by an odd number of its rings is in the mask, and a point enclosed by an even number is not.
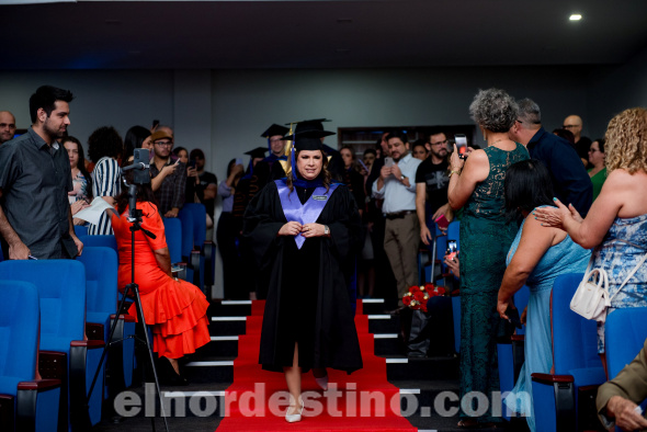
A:
[[[542,113],[535,102],[523,99],[518,103],[519,118],[510,137],[526,146],[530,157],[548,168],[559,201],[572,204],[582,217],[587,216],[593,202],[593,184],[577,151],[566,139],[542,127]]]

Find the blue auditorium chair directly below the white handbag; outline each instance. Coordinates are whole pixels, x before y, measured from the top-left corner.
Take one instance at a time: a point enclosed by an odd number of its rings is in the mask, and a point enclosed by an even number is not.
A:
[[[598,355],[598,327],[595,321],[570,310],[570,299],[582,276],[565,274],[553,285],[550,330],[555,374],[532,374],[537,431],[570,432],[587,429],[583,424],[587,421],[598,422],[591,395],[606,380]]]

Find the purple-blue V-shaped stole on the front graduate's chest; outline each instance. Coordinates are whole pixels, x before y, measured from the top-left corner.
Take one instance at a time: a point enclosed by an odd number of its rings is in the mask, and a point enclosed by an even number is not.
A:
[[[287,187],[287,184],[285,184],[283,180],[274,180],[274,182],[276,183],[279,198],[281,200],[281,206],[283,207],[285,218],[287,221],[296,220],[302,225],[317,221],[324,207],[326,207],[326,204],[328,203],[328,198],[339,185],[339,183],[331,184],[328,193],[326,193],[326,187],[318,186],[315,189],[315,192],[313,192],[313,195],[310,195],[308,201],[306,201],[306,204],[302,205],[296,192],[292,191],[292,193],[290,193],[290,187]],[[304,246],[306,238],[299,232],[294,237],[294,241],[296,241],[296,247],[300,249],[302,246]]]

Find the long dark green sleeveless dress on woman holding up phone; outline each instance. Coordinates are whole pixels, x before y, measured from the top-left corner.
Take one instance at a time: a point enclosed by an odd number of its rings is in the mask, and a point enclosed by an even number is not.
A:
[[[512,163],[529,159],[525,147],[511,151],[487,147],[490,172],[464,206],[461,220],[461,397],[480,391],[488,410],[479,422],[500,421],[491,416],[492,391],[499,391],[496,332],[501,322],[497,295],[506,272],[506,253],[517,232],[517,224],[506,223],[503,181]],[[462,418],[476,418],[479,408],[473,398],[472,412],[461,406]]]

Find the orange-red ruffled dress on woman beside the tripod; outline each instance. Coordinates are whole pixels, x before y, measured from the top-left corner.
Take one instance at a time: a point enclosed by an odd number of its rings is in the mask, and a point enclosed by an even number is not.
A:
[[[155,250],[167,247],[164,226],[152,203],[137,203],[141,211],[141,227],[156,235],[155,239],[135,232],[135,283],[139,285],[146,323],[152,326],[154,351],[160,356],[179,359],[209,342],[208,302],[193,284],[166,274],[157,264]],[[118,288],[130,283],[130,223],[128,208],[117,217],[112,214],[120,252]],[[128,314],[136,317],[135,305]]]

